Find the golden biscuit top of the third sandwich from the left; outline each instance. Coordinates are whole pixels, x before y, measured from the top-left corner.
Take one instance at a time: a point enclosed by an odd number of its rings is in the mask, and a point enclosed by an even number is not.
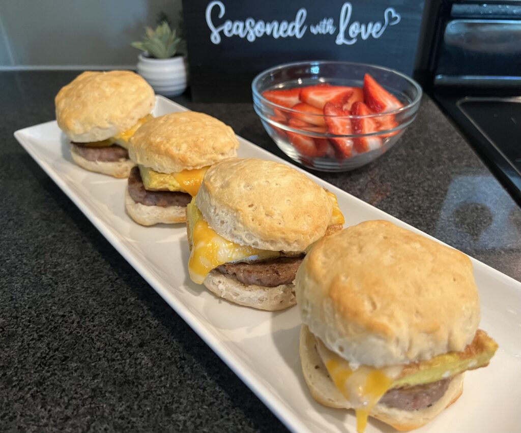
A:
[[[324,236],[332,213],[324,188],[288,165],[260,159],[210,167],[196,205],[220,236],[272,251],[303,251]]]

